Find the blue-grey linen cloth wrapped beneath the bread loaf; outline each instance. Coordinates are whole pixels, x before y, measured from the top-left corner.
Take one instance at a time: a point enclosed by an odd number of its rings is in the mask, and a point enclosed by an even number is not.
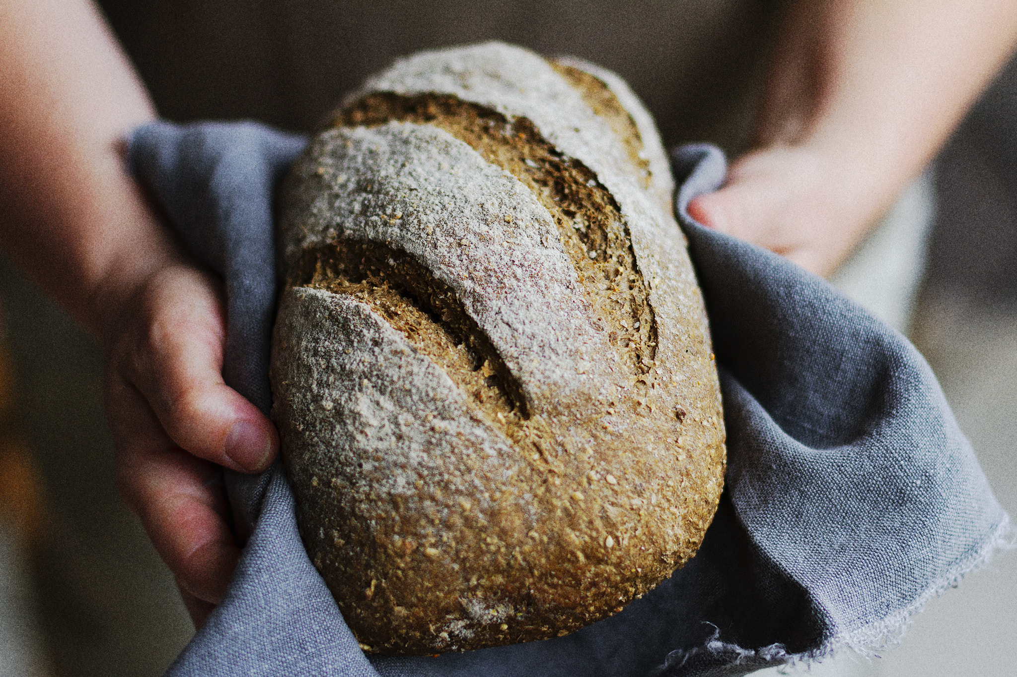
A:
[[[265,411],[273,189],[304,142],[251,123],[154,123],[130,139],[134,175],[226,281],[224,376]],[[1008,518],[921,356],[822,279],[689,217],[724,180],[720,151],[685,146],[672,161],[728,431],[726,488],[696,557],[563,637],[368,657],[304,552],[279,465],[231,474],[246,547],[168,675],[740,675],[892,641],[984,562]]]

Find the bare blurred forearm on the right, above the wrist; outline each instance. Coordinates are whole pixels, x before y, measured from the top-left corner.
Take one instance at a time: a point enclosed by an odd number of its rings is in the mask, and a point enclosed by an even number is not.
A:
[[[756,144],[829,158],[872,210],[932,159],[1017,40],[1017,3],[792,0]],[[871,213],[871,217],[878,214]]]

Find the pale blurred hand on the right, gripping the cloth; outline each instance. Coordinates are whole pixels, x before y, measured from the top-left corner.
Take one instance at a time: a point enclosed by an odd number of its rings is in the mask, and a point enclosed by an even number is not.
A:
[[[826,277],[885,208],[864,173],[845,166],[802,146],[758,150],[734,162],[721,190],[693,200],[689,213]]]

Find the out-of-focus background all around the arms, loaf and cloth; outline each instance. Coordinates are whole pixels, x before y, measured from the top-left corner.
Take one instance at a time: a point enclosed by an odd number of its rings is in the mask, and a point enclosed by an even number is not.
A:
[[[306,131],[399,55],[499,39],[616,71],[667,145],[709,140],[734,152],[776,3],[101,4],[161,114],[175,121],[249,118]],[[1017,514],[1017,64],[936,167],[938,217],[911,335]],[[0,676],[161,674],[192,629],[116,496],[100,351],[5,261],[0,294],[10,356],[0,359],[0,410],[10,412],[0,411]],[[1015,559],[1001,556],[934,601],[900,649],[857,670],[1012,674]]]

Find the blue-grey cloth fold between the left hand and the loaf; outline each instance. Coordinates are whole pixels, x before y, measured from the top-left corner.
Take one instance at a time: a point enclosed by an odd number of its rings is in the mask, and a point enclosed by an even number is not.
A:
[[[129,139],[131,173],[155,193],[198,261],[226,285],[223,380],[265,415],[276,317],[272,195],[307,139],[251,122],[144,125]],[[247,541],[268,475],[224,470],[236,535]]]

